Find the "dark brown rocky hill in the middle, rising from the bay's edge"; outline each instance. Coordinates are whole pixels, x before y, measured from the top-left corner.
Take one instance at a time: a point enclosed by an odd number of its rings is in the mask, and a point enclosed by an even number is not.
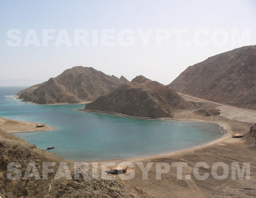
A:
[[[176,92],[140,75],[131,82],[123,83],[114,91],[86,104],[85,109],[165,118],[173,117],[175,110],[186,107],[186,101]]]

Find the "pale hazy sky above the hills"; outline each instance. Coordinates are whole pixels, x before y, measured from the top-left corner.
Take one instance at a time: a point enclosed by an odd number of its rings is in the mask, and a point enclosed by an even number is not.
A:
[[[20,31],[18,47],[7,43],[14,41],[7,35],[10,29]],[[40,46],[23,46],[29,29]],[[42,46],[45,29],[55,29],[50,33],[54,39]],[[68,33],[71,46],[55,46],[61,29]],[[77,29],[88,31],[91,46],[74,46]],[[138,29],[152,31],[146,46]],[[97,46],[92,44],[93,30]],[[109,40],[116,46],[101,43],[102,30],[110,32]],[[182,41],[177,31],[183,32]],[[131,46],[120,43],[122,32],[121,41]],[[188,66],[244,45],[256,45],[255,0],[0,1],[0,86],[33,85],[78,65],[128,80],[145,75],[169,84]]]

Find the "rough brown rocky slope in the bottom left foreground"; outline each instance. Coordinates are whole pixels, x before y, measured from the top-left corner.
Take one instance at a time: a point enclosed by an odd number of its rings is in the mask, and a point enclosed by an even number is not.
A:
[[[66,162],[72,174],[73,162],[64,160],[53,153],[42,151],[35,145],[15,137],[13,134],[0,130],[0,196],[2,198],[80,198],[80,197],[104,197],[104,198],[147,198],[146,193],[136,189],[133,185],[119,179],[101,179],[101,173],[96,172],[98,179],[67,180],[65,177],[54,179],[59,163]],[[7,165],[9,162],[18,162],[21,167],[22,177],[28,165],[33,162],[36,165],[40,179],[10,180],[7,178]],[[54,172],[48,174],[48,179],[42,179],[42,163],[54,162]],[[92,170],[89,167],[88,172]]]

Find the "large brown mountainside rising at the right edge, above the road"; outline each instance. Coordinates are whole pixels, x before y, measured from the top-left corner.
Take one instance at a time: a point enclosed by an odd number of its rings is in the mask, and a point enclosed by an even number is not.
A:
[[[195,97],[256,109],[256,45],[189,66],[168,86]]]

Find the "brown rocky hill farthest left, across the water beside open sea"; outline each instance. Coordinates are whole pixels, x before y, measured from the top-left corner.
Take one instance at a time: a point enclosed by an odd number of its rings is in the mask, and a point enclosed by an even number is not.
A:
[[[19,99],[38,104],[80,103],[92,101],[123,83],[114,75],[106,75],[92,67],[76,66],[56,78],[33,85],[18,93]]]

